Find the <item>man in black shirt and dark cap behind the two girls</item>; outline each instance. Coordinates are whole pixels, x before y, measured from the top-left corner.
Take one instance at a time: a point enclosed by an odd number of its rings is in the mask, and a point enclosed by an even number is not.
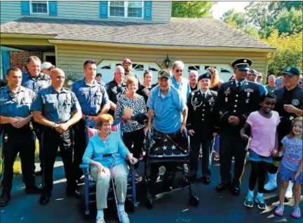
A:
[[[285,135],[290,133],[292,120],[296,116],[302,116],[303,109],[303,90],[299,88],[297,81],[299,80],[299,69],[297,67],[287,67],[283,71],[283,88],[274,90],[276,95],[275,110],[280,114],[281,122],[278,125],[278,142],[281,147],[281,140]],[[278,158],[275,158],[278,160]],[[280,158],[281,160],[281,158]],[[264,185],[265,191],[276,189],[276,173],[277,169],[274,165],[269,166],[269,181]],[[292,198],[292,183],[288,184],[288,190],[285,194],[286,198]]]

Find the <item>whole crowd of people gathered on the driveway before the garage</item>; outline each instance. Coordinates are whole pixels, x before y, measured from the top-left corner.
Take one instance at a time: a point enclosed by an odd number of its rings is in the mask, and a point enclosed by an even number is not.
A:
[[[90,174],[97,182],[96,222],[105,222],[109,168],[116,154],[113,177],[119,201],[121,222],[129,222],[124,210],[128,167],[125,159],[138,168],[144,153],[145,135],[160,139],[164,134],[174,140],[186,131],[190,137],[191,180],[198,177],[198,160],[202,155],[202,180],[210,184],[214,137],[220,137],[220,149],[214,161],[220,162],[221,182],[217,191],[230,189],[241,194],[245,161],[250,161],[248,195],[244,205],[264,210],[264,191],[276,189],[276,175],[281,177],[280,204],[276,215],[283,215],[285,194],[299,209],[302,185],[302,75],[297,67],[287,67],[281,77],[267,76],[251,69],[253,61],[241,58],[232,62],[234,74],[224,82],[215,67],[199,75],[189,71],[184,77],[184,63],[175,61],[171,69],[162,69],[157,83],[152,84],[152,71],[144,72],[141,83],[133,72],[132,62],[125,59],[114,71],[114,79],[102,83],[95,61],[83,64],[83,79],[63,87],[65,72],[35,56],[27,60],[27,72],[11,67],[6,73],[7,85],[0,88],[0,119],[4,175],[0,206],[8,205],[13,183],[13,163],[20,154],[25,191],[41,194],[39,202],[50,202],[53,168],[60,148],[67,178],[66,193],[79,198],[78,184],[83,175],[79,165],[89,163]],[[223,83],[224,82],[224,83]],[[147,123],[138,121],[146,115]],[[123,137],[112,133],[114,122],[121,123]],[[100,130],[86,146],[86,124]],[[39,141],[42,187],[35,182],[34,151]],[[26,146],[25,146],[26,145]],[[166,149],[166,148],[164,148]],[[246,156],[248,155],[248,158]],[[234,176],[231,162],[234,159]],[[175,167],[166,167],[164,184],[173,185]],[[265,184],[267,172],[269,180]],[[135,174],[137,182],[142,176]],[[254,196],[258,182],[257,196]]]

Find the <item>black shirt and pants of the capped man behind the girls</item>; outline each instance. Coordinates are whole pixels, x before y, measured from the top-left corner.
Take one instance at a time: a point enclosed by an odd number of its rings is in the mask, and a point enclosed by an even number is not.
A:
[[[281,143],[282,138],[290,132],[291,124],[296,115],[288,113],[284,109],[284,104],[292,104],[298,109],[303,109],[303,90],[297,85],[292,90],[279,88],[274,90],[276,95],[276,106],[274,110],[280,115],[280,123],[278,125],[278,138]]]

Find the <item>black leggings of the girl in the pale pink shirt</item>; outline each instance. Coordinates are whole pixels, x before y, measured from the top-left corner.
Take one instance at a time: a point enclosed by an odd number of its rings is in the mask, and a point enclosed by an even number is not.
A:
[[[250,180],[249,180],[249,189],[253,191],[255,189],[255,184],[258,182],[258,192],[263,193],[265,177],[267,174],[267,166],[269,163],[264,161],[255,162],[251,161],[251,170],[250,170]]]

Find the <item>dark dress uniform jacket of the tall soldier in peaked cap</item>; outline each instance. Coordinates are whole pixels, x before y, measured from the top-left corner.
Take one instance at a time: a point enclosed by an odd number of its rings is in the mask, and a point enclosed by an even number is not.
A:
[[[262,86],[251,81],[243,81],[241,87],[236,86],[236,81],[222,83],[217,92],[215,102],[215,128],[220,133],[238,133],[243,128],[248,115],[260,107]],[[232,126],[229,116],[239,119],[237,126]]]

